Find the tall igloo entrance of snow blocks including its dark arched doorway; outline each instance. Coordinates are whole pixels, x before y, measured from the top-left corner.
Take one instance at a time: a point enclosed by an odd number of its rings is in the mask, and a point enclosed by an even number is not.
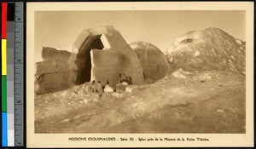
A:
[[[92,80],[115,85],[125,78],[131,83],[144,82],[137,53],[113,26],[84,29],[73,43],[69,63],[70,86]]]

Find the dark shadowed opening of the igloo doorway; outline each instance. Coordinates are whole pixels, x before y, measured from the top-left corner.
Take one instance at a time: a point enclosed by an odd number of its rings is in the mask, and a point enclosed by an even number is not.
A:
[[[84,43],[79,49],[77,54],[76,64],[79,67],[78,77],[76,84],[90,82],[90,70],[91,70],[91,59],[90,50],[91,49],[103,49],[103,43],[101,40],[102,35],[87,37]]]

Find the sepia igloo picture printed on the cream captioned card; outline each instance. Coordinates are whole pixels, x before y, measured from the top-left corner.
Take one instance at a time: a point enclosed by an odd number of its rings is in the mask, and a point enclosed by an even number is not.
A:
[[[43,9],[32,19],[35,135],[246,135],[246,9]]]

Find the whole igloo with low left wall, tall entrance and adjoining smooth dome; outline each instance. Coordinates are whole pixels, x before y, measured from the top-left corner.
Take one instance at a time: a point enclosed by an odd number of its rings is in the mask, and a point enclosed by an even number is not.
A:
[[[109,83],[143,84],[166,76],[165,55],[150,43],[126,43],[113,26],[84,29],[72,52],[44,47],[37,62],[35,93],[44,94],[96,80]]]

